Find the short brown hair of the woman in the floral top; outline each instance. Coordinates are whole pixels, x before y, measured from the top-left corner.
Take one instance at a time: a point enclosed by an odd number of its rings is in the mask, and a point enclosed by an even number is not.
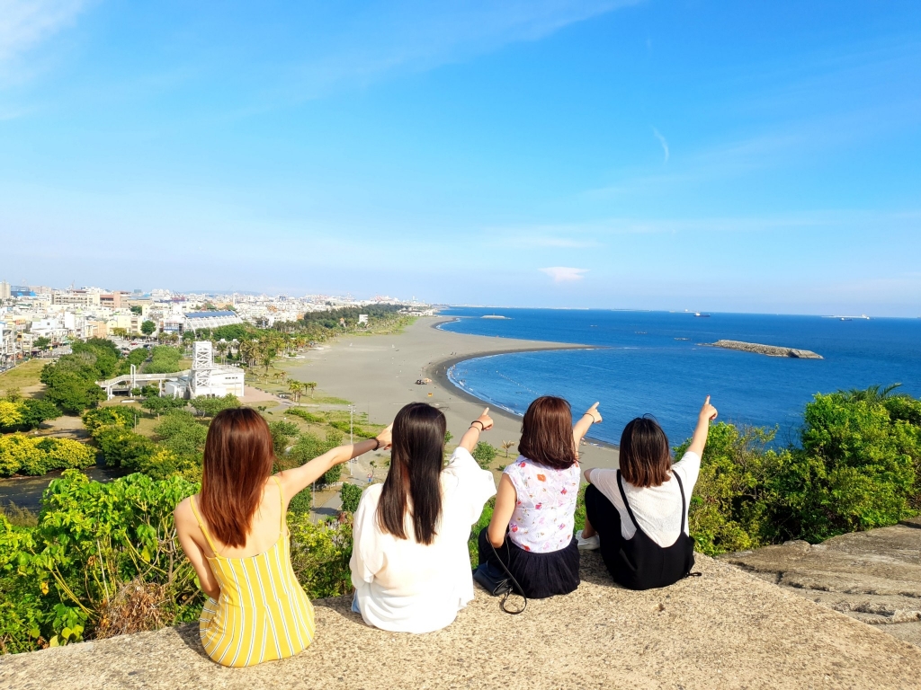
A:
[[[519,453],[553,469],[569,469],[577,461],[572,410],[562,397],[534,400],[521,420]]]

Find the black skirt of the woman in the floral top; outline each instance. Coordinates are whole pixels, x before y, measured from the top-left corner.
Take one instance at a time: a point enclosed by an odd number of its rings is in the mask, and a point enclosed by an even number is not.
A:
[[[480,562],[492,561],[498,565],[496,552],[501,562],[518,581],[523,593],[529,599],[546,599],[556,594],[575,592],[578,587],[578,540],[573,535],[569,546],[548,553],[525,551],[515,546],[506,535],[505,544],[493,550],[486,536],[486,527],[480,532]]]

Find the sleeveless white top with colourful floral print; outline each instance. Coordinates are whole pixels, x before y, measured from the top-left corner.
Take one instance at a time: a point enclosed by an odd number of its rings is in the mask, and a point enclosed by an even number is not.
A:
[[[568,469],[552,469],[519,456],[504,474],[518,494],[508,538],[525,551],[537,553],[569,546],[578,496],[578,463]]]

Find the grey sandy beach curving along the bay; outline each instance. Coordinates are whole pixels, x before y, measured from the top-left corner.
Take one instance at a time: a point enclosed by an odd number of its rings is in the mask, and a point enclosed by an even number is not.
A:
[[[327,395],[344,397],[367,413],[369,420],[389,423],[407,403],[422,401],[437,406],[448,419],[455,441],[479,416],[484,402],[452,385],[448,369],[456,362],[501,352],[575,350],[586,346],[539,340],[486,338],[440,330],[438,324],[450,317],[422,317],[396,335],[340,338],[322,350],[305,354],[305,360],[288,365],[288,374],[301,381],[316,381]],[[432,379],[416,385],[418,379]],[[431,395],[429,395],[431,394]],[[309,402],[308,397],[303,398]],[[604,414],[604,401],[600,411]],[[579,416],[584,410],[573,410]],[[519,440],[521,418],[491,408],[495,428],[483,440],[498,447],[503,441]],[[501,453],[500,453],[501,455]],[[617,451],[601,443],[583,445],[583,468],[617,466]]]

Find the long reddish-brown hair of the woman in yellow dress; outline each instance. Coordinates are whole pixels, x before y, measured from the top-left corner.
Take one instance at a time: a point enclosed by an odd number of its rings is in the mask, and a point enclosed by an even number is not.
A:
[[[274,459],[269,425],[254,409],[225,409],[215,415],[204,441],[199,502],[221,543],[246,546]]]

